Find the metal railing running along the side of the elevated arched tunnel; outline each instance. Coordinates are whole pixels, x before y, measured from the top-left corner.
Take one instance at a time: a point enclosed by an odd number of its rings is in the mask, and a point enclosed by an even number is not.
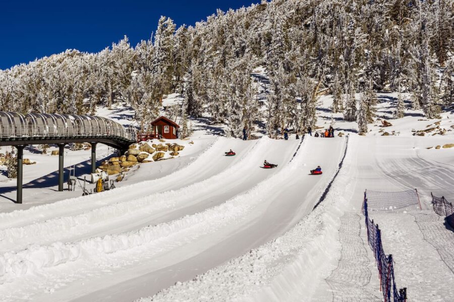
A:
[[[24,125],[0,124],[0,138],[30,138],[30,137],[74,137],[74,136],[119,136],[135,140],[136,134],[132,127],[116,128],[94,125]]]

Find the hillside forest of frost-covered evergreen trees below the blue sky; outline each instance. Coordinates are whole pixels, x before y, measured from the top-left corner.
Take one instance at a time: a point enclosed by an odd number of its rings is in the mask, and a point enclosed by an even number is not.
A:
[[[241,136],[258,121],[271,136],[316,122],[317,92],[328,89],[332,111],[357,121],[374,117],[377,91],[401,93],[433,118],[454,102],[454,2],[450,0],[274,0],[221,12],[176,29],[162,17],[153,36],[132,47],[125,37],[99,53],[65,53],[0,70],[0,110],[93,113],[130,104],[143,127],[164,95],[184,96],[188,116],[208,115]],[[251,74],[269,77],[257,98]],[[358,97],[358,94],[360,97]]]

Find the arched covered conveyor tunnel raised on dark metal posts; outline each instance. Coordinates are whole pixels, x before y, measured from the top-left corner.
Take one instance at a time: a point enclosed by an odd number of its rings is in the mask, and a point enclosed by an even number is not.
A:
[[[30,144],[56,144],[59,146],[59,191],[63,191],[63,156],[68,143],[89,142],[92,172],[96,169],[96,144],[103,143],[126,150],[136,141],[133,128],[105,117],[0,111],[0,145],[17,147],[18,176],[17,200],[22,203],[23,150]]]

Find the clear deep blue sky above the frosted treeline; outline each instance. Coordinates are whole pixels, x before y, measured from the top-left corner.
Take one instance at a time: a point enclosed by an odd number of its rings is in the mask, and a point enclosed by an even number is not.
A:
[[[260,0],[0,0],[0,69],[69,48],[98,52],[127,35],[132,45],[149,39],[161,15],[177,26],[205,20],[219,8]]]

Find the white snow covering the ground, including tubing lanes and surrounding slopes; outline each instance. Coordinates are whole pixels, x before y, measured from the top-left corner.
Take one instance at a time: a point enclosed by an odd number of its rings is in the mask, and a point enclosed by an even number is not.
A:
[[[378,116],[390,118],[395,95],[379,98]],[[180,101],[171,95],[164,106]],[[415,188],[422,210],[370,215],[409,299],[450,301],[454,232],[430,193],[454,200],[454,148],[435,148],[454,143],[451,113],[426,120],[408,109],[359,136],[330,103],[321,98],[317,126],[348,139],[242,141],[201,118],[190,140],[176,141],[180,157],[136,166],[115,190],[89,196],[79,185],[57,192],[58,157],[27,148],[37,164],[24,166],[24,204],[11,201],[15,180],[0,176],[0,301],[379,301],[363,193]],[[125,125],[133,117],[128,107],[98,114]],[[229,149],[237,155],[223,156]],[[97,150],[99,160],[112,154]],[[81,180],[89,159],[65,151]],[[278,167],[261,169],[265,159]],[[317,165],[323,175],[309,175]]]

